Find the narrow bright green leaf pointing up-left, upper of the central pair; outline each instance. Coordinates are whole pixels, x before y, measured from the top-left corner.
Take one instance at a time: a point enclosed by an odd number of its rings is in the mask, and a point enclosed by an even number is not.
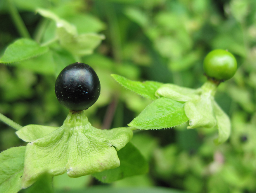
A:
[[[156,100],[158,97],[156,97],[155,93],[156,90],[163,85],[163,83],[155,82],[155,81],[145,81],[145,82],[139,82],[139,81],[132,81],[128,80],[127,78],[123,76],[119,76],[117,74],[111,74],[111,76],[122,86],[125,88],[135,92],[136,94],[149,98],[151,100]]]

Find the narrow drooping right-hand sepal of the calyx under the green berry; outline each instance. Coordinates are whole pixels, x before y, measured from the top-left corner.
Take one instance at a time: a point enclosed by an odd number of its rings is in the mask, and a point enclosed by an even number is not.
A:
[[[217,120],[217,128],[219,131],[218,139],[216,139],[217,144],[225,142],[230,136],[231,124],[228,115],[223,112],[220,106],[214,101],[213,102],[213,111]]]

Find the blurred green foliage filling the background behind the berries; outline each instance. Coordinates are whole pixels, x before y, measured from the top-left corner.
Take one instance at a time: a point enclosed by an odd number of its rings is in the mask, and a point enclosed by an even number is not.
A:
[[[92,66],[101,95],[86,110],[93,126],[126,126],[149,103],[119,86],[115,73],[131,80],[153,80],[197,88],[206,77],[202,61],[213,49],[227,49],[239,68],[218,88],[216,101],[232,120],[230,139],[215,146],[216,130],[136,131],[133,144],[150,163],[144,176],[116,181],[114,187],[164,186],[194,193],[256,192],[256,1],[255,0],[1,0],[0,56],[21,35],[9,4],[19,11],[29,36],[40,44],[55,36],[45,8],[75,25],[78,33],[106,39],[81,61]],[[77,61],[50,44],[50,52],[12,64],[0,64],[0,113],[21,124],[60,126],[68,110],[54,93],[57,74]],[[26,145],[15,130],[0,122],[0,151]],[[55,190],[99,185],[91,176],[54,178]],[[148,190],[148,189],[147,189]]]

